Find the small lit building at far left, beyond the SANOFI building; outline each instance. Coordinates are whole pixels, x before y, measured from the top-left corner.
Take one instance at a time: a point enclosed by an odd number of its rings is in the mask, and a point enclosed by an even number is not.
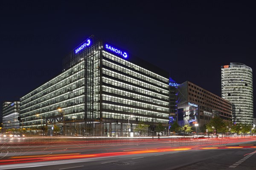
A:
[[[3,128],[19,128],[20,102],[3,102]]]

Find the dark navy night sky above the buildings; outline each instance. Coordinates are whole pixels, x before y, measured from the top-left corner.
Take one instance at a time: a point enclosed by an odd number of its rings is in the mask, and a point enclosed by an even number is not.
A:
[[[91,34],[218,96],[221,65],[244,63],[253,69],[256,91],[250,2],[4,1],[0,16],[1,103],[60,74],[65,55]]]

